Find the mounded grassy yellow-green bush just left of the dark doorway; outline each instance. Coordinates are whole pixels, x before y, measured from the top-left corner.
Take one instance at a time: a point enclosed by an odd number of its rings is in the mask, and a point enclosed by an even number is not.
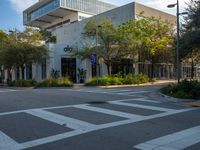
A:
[[[36,87],[71,87],[72,85],[72,82],[67,77],[61,77],[58,79],[46,79]]]

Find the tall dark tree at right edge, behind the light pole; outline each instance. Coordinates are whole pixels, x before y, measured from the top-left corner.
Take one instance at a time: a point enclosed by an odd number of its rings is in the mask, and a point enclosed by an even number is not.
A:
[[[186,9],[185,25],[181,33],[181,58],[191,63],[191,78],[194,77],[194,66],[200,62],[200,1],[191,0]]]

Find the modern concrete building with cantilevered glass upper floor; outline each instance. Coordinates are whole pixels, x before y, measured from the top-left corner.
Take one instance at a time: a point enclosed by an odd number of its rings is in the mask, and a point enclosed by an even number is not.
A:
[[[100,0],[40,0],[23,12],[24,25],[49,30],[57,37],[57,42],[47,44],[50,57],[44,64],[32,66],[31,77],[40,81],[48,78],[51,70],[55,69],[61,76],[67,75],[74,82],[79,82],[78,69],[83,68],[87,70],[86,80],[90,79],[96,75],[96,65],[91,64],[89,59],[81,61],[72,55],[72,51],[80,51],[85,43],[82,37],[85,23],[89,19],[109,18],[120,25],[137,18],[141,12],[145,16],[160,17],[174,24],[176,22],[173,15],[135,2],[117,7]],[[139,63],[133,65],[124,60],[114,66],[113,70],[122,70],[127,74],[133,66],[137,72]],[[100,64],[100,68],[100,75],[106,75],[106,66]],[[168,68],[168,71],[172,72],[172,68]]]

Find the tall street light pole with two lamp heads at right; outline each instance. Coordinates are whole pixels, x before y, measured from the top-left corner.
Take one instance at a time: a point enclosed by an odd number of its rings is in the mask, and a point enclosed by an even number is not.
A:
[[[181,80],[181,66],[180,66],[180,15],[185,15],[187,14],[187,12],[183,12],[183,13],[180,13],[179,12],[179,0],[177,0],[177,3],[175,4],[170,4],[168,5],[167,7],[168,8],[173,8],[175,7],[177,8],[177,12],[176,12],[176,17],[177,17],[177,49],[176,49],[176,65],[177,65],[177,80],[178,80],[178,83],[180,82]]]

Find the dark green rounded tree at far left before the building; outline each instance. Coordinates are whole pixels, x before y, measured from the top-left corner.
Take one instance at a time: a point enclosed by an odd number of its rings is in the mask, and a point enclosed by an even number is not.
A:
[[[25,65],[40,63],[48,56],[48,50],[42,45],[39,30],[26,28],[15,37],[8,36],[0,51],[0,62],[10,72],[13,67],[20,68],[23,76]]]

